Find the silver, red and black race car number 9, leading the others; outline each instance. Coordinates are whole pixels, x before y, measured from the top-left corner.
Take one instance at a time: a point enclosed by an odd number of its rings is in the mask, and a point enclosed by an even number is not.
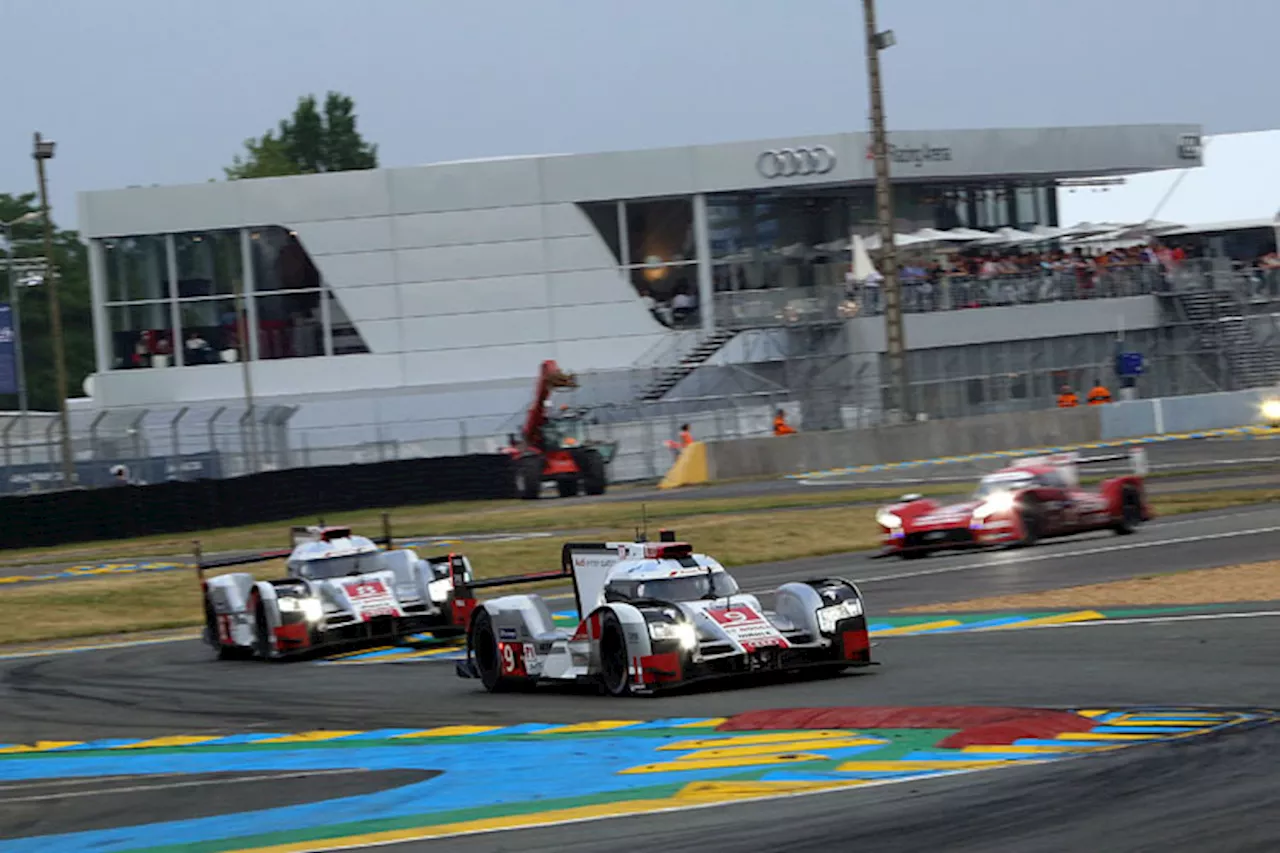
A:
[[[664,532],[655,543],[570,543],[558,575],[480,583],[550,576],[572,580],[577,628],[557,628],[538,594],[485,601],[472,613],[458,676],[490,693],[561,683],[622,697],[716,678],[873,665],[861,593],[840,578],[782,584],[765,610],[719,562]]]

